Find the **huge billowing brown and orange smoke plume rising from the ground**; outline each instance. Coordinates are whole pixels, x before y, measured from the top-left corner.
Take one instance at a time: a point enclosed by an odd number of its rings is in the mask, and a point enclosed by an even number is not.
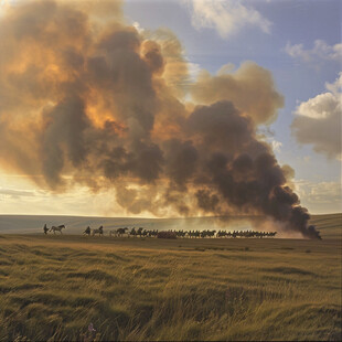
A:
[[[116,1],[20,2],[0,42],[1,168],[53,192],[113,188],[128,213],[266,215],[319,236],[257,136],[282,106],[268,71],[192,83],[177,38],[125,24]]]

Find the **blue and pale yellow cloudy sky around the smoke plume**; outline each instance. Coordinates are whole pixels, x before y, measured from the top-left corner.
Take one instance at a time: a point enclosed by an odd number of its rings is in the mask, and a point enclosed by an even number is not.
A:
[[[0,20],[18,3],[0,1]],[[310,213],[341,212],[341,1],[126,0],[122,11],[141,34],[171,30],[193,81],[246,61],[268,70],[284,106],[258,133],[295,170],[292,186]],[[0,165],[0,214],[151,216],[127,211],[115,193],[84,184],[55,192]]]

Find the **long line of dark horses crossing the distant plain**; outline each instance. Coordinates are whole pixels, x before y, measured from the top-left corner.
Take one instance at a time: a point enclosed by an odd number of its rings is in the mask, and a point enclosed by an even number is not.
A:
[[[53,232],[56,234],[56,232],[62,233],[62,229],[65,228],[65,225],[62,224],[60,226],[52,226],[50,229],[47,228],[46,224],[44,225],[44,233],[47,234],[47,232]],[[170,234],[174,235],[175,237],[180,238],[213,238],[213,237],[221,237],[221,238],[236,238],[236,237],[245,237],[245,238],[263,238],[263,237],[275,237],[277,232],[255,232],[255,231],[233,231],[233,232],[226,232],[226,231],[168,231]],[[116,228],[109,231],[110,237],[160,237],[158,235],[158,229],[146,229],[143,227],[132,227],[129,228]],[[104,227],[99,226],[96,229],[92,229],[89,226],[86,227],[86,229],[83,232],[83,235],[87,236],[103,236],[104,235]]]

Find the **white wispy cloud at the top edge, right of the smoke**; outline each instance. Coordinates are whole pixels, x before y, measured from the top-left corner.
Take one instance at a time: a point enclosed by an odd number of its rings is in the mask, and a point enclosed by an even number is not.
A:
[[[223,38],[236,34],[245,26],[256,26],[270,33],[271,23],[258,11],[238,0],[182,0],[192,13],[192,24],[197,30],[215,29]]]

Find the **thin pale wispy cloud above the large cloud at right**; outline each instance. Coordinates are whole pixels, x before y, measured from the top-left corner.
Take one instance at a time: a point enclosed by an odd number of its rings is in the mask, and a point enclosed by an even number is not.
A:
[[[342,60],[342,44],[329,45],[322,40],[317,40],[311,50],[306,50],[302,44],[291,45],[288,42],[285,46],[285,52],[293,57],[302,60],[307,63],[317,63],[318,61],[336,61]]]

